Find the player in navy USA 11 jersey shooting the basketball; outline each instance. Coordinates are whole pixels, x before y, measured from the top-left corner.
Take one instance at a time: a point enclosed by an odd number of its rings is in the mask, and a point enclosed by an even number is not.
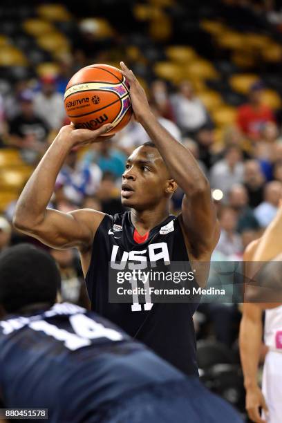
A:
[[[70,125],[59,131],[23,189],[14,225],[51,247],[77,247],[92,309],[180,370],[198,375],[192,319],[196,303],[155,303],[144,308],[137,301],[133,306],[109,303],[109,262],[209,262],[219,237],[216,210],[203,171],[189,150],[160,125],[138,80],[123,63],[121,66],[130,84],[135,118],[154,143],[135,149],[126,162],[121,198],[131,211],[109,216],[92,209],[64,214],[46,208],[69,151],[104,141],[100,135],[112,129],[111,124],[97,131]],[[178,185],[185,196],[182,212],[176,217],[169,214],[169,200]],[[197,282],[205,286],[204,277]]]

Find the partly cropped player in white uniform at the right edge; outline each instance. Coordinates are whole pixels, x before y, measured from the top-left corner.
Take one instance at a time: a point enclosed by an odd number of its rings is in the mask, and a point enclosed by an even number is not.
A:
[[[246,276],[252,281],[246,288],[240,328],[246,408],[256,423],[280,423],[282,418],[282,209],[279,209],[263,236],[251,243],[244,254]],[[265,262],[262,265],[251,262]],[[254,302],[256,301],[256,302]],[[274,302],[275,301],[275,302]],[[267,355],[263,366],[263,386],[257,373],[263,337],[262,314],[265,310],[264,341]],[[260,416],[259,408],[263,409]]]

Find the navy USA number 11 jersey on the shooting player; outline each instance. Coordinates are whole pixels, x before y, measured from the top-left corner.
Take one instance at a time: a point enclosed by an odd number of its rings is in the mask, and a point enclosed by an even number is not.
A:
[[[146,241],[134,239],[130,212],[105,215],[93,240],[86,285],[92,308],[187,375],[198,375],[193,314],[197,303],[109,303],[109,265],[136,257],[148,262],[187,262],[189,257],[179,218],[167,217],[149,232]],[[131,259],[132,258],[132,259]],[[198,288],[191,281],[191,288]]]

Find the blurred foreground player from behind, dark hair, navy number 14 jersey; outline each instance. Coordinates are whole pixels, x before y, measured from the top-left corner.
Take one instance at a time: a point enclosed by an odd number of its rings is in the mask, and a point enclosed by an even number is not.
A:
[[[196,377],[109,321],[55,303],[59,283],[42,250],[21,244],[0,255],[2,408],[48,408],[54,423],[241,422]]]

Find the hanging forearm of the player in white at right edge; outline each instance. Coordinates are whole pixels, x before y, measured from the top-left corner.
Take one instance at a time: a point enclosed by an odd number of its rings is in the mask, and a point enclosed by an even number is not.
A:
[[[246,389],[257,385],[257,373],[261,351],[262,325],[250,319],[242,318],[239,344],[241,363]]]

